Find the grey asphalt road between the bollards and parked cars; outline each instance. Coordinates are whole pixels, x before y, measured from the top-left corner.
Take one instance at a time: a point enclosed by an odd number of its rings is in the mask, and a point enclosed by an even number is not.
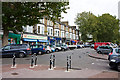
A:
[[[107,60],[95,59],[88,56],[89,53],[94,53],[95,50],[91,48],[75,49],[68,51],[60,51],[51,54],[56,56],[56,66],[66,67],[67,56],[72,56],[72,68],[90,69],[90,70],[102,70],[102,71],[115,71],[110,69]],[[51,54],[38,55],[37,64],[49,65],[49,59]],[[26,58],[16,58],[17,64],[30,64],[31,56]],[[3,58],[2,65],[11,64],[12,58]]]

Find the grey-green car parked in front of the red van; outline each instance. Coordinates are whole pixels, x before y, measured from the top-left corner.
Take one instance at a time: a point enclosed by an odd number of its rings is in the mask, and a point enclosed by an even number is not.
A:
[[[110,46],[98,46],[96,51],[98,54],[109,54],[112,50]]]

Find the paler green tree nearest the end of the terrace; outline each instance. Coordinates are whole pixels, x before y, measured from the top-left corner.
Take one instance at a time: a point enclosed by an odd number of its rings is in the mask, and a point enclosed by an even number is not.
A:
[[[87,34],[93,35],[93,40],[96,38],[97,17],[94,14],[90,12],[78,13],[75,19],[75,23],[79,26],[84,41],[88,39]]]

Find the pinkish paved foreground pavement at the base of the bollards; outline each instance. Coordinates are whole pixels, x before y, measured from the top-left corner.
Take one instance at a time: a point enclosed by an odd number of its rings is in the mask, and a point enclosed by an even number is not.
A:
[[[2,78],[118,78],[118,72],[98,71],[91,69],[75,70],[69,72],[66,68],[56,67],[49,70],[49,66],[38,65],[35,68],[29,68],[29,64],[18,64],[16,68],[11,65],[4,65]]]

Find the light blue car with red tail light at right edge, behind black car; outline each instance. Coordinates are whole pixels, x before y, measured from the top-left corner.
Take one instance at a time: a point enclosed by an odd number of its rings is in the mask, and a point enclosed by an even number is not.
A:
[[[108,55],[108,60],[116,58],[117,56],[120,56],[120,48],[113,48],[112,51]]]

